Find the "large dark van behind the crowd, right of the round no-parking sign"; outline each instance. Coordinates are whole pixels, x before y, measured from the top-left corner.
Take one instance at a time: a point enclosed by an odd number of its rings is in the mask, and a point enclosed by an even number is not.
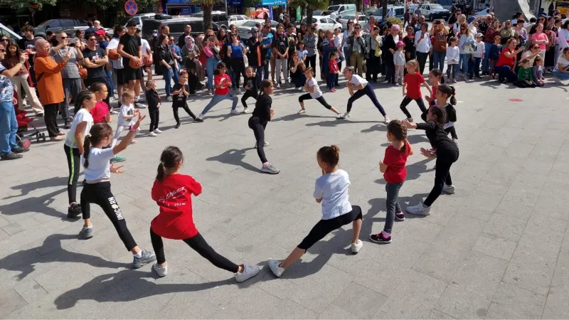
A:
[[[156,19],[147,19],[142,22],[142,38],[150,40],[152,37],[152,31],[160,30],[161,26],[168,26],[170,28],[170,35],[174,36],[174,39],[178,41],[179,36],[184,33],[184,26],[189,24],[191,26],[191,35],[197,36],[200,33],[206,33],[206,30],[203,28],[203,19],[190,17],[190,16],[181,16],[179,18],[171,18],[168,20],[156,20]],[[217,32],[221,27],[215,23],[211,23],[211,28],[213,31]]]

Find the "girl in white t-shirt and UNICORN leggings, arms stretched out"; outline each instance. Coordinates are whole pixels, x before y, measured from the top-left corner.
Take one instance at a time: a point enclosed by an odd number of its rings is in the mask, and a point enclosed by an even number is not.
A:
[[[85,151],[81,155],[81,162],[85,168],[85,181],[83,191],[81,191],[81,211],[83,211],[85,224],[81,230],[81,235],[85,239],[93,237],[91,203],[95,203],[102,208],[105,215],[111,220],[127,250],[132,252],[134,256],[132,267],[134,269],[153,262],[156,260],[156,255],[152,251],[141,250],[127,228],[127,222],[124,220],[119,203],[112,195],[110,183],[111,173],[122,174],[123,171],[120,170],[122,166],[115,168],[110,163],[110,159],[114,158],[120,151],[127,149],[140,127],[140,122],[145,117],[139,117],[129,130],[127,137],[124,137],[119,144],[113,147],[109,147],[112,142],[112,128],[106,123],[93,125],[85,137],[83,143]]]

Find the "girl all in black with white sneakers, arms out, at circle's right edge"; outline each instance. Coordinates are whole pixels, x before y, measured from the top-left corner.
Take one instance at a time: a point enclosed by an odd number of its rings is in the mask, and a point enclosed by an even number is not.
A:
[[[442,90],[437,90],[436,97],[437,105],[447,105],[447,100],[450,96]],[[425,130],[431,146],[436,151],[421,148],[421,154],[427,158],[437,158],[435,186],[432,187],[425,201],[420,202],[417,206],[407,207],[407,212],[413,215],[430,215],[432,203],[437,200],[442,191],[450,194],[454,193],[454,186],[452,186],[452,179],[450,178],[450,166],[458,160],[459,152],[457,145],[447,137],[445,129],[442,129],[446,119],[447,112],[445,112],[445,109],[433,106],[427,113],[426,123],[415,124],[403,120],[403,124],[408,128]]]

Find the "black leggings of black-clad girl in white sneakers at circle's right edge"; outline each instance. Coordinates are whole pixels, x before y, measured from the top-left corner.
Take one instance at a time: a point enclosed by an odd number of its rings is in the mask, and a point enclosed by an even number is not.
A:
[[[446,144],[452,144],[452,142],[446,142]],[[437,149],[437,169],[435,169],[435,186],[432,187],[429,196],[423,202],[427,207],[430,207],[432,203],[437,200],[437,198],[442,193],[442,189],[445,188],[445,183],[447,185],[452,185],[452,179],[450,178],[450,166],[458,160],[458,148],[452,144],[452,146],[445,146],[445,148]]]

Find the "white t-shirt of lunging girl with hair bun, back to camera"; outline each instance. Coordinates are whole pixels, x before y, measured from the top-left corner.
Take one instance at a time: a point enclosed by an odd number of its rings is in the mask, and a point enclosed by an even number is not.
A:
[[[351,211],[350,184],[348,173],[342,169],[316,179],[314,198],[322,199],[322,220],[330,220]]]

